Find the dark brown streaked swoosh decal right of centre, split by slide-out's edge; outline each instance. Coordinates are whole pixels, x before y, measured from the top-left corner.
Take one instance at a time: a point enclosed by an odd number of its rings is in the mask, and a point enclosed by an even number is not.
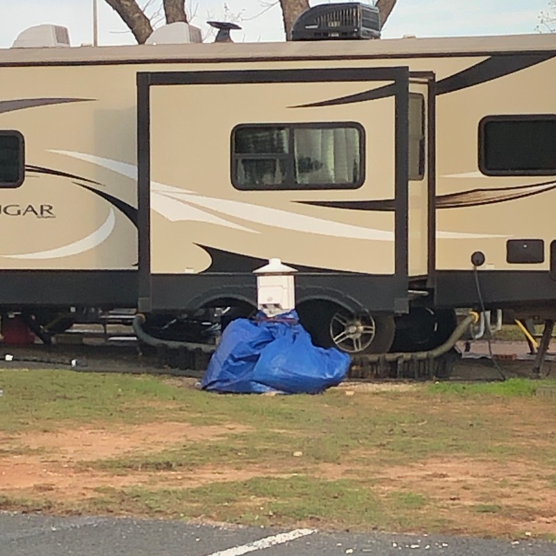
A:
[[[436,208],[461,208],[485,204],[505,203],[524,197],[532,197],[556,189],[556,180],[532,183],[530,186],[513,186],[491,189],[471,189],[460,193],[448,193],[436,197]],[[346,208],[350,211],[394,211],[395,199],[374,201],[297,201],[311,206]]]

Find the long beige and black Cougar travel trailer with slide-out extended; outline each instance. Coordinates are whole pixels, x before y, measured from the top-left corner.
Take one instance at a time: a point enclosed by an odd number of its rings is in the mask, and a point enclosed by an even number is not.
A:
[[[556,37],[303,38],[0,51],[1,311],[243,314],[279,257],[348,352],[555,314]]]

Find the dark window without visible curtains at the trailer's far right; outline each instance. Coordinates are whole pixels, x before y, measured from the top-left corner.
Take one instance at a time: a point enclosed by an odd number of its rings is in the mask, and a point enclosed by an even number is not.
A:
[[[479,167],[487,176],[556,174],[556,115],[483,118]]]

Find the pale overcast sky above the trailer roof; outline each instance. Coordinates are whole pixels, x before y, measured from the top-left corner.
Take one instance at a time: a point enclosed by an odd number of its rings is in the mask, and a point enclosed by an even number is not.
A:
[[[20,31],[41,23],[69,28],[73,46],[91,43],[93,1],[0,0],[0,47],[10,47]],[[243,30],[233,35],[237,42],[284,40],[279,6],[255,17],[272,1],[186,0],[186,5],[189,13],[195,14],[192,23],[200,27],[206,19],[224,19],[224,6],[229,13],[240,15]],[[325,0],[310,1],[315,5]],[[98,3],[99,44],[132,44],[133,36],[117,14],[104,0]],[[398,0],[383,37],[534,33],[538,15],[547,7],[548,0]]]

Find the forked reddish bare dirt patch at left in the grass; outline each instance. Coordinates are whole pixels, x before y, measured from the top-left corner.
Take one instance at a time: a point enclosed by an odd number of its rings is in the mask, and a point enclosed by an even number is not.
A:
[[[238,434],[249,427],[227,425],[190,425],[189,423],[145,423],[120,428],[80,427],[56,432],[28,432],[17,436],[0,437],[6,454],[0,457],[0,493],[48,493],[49,498],[63,500],[88,497],[102,486],[115,488],[129,485],[168,484],[170,486],[199,486],[227,477],[243,480],[259,471],[236,471],[225,468],[184,473],[163,471],[129,471],[114,475],[88,468],[76,468],[81,461],[108,459],[141,452],[157,452],[172,445],[221,439],[227,434]],[[15,455],[9,455],[14,450]],[[22,455],[25,450],[30,455]],[[40,452],[37,454],[36,452]],[[230,478],[231,477],[231,478]]]

